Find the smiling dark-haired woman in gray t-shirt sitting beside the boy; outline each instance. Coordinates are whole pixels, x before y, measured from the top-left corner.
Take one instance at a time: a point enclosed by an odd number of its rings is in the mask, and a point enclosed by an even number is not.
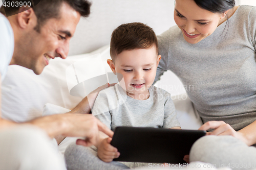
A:
[[[174,19],[177,26],[158,37],[162,60],[155,81],[172,70],[193,85],[187,94],[205,123],[200,130],[219,135],[198,140],[190,161],[249,168],[256,158],[248,147],[256,143],[256,7],[176,0]]]

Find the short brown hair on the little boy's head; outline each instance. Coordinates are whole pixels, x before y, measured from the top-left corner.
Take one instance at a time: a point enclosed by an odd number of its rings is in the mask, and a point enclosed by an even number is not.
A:
[[[114,62],[116,56],[124,50],[145,49],[152,45],[156,45],[158,55],[157,36],[152,28],[140,22],[125,23],[112,33],[110,56]]]

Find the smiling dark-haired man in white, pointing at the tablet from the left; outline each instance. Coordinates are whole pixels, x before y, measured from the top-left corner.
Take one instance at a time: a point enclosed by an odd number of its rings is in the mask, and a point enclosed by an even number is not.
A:
[[[0,87],[8,65],[24,66],[39,75],[50,59],[65,59],[77,23],[81,16],[89,16],[90,6],[86,0],[41,0],[33,8],[4,9],[2,6]],[[5,17],[5,11],[13,15]],[[91,100],[96,96],[97,93],[92,94]],[[99,131],[113,136],[113,132],[92,115],[82,114],[90,110],[88,98],[84,98],[66,114],[39,117],[23,124],[0,118],[0,169],[65,169],[51,148],[49,137],[55,137],[59,143],[65,136],[84,136],[86,139],[78,140],[77,144],[89,146],[97,144]]]

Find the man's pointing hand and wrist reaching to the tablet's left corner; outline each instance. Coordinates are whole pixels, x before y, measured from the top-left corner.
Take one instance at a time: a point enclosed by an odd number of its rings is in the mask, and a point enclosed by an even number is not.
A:
[[[66,113],[40,117],[28,122],[46,130],[50,137],[56,135],[84,136],[86,140],[80,141],[84,146],[97,145],[99,131],[112,137],[114,132],[102,124],[91,114]]]

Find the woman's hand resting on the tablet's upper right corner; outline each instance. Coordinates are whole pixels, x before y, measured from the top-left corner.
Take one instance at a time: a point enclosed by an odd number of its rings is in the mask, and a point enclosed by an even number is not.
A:
[[[223,121],[209,121],[202,125],[198,130],[208,130],[214,129],[212,132],[207,132],[206,135],[231,135],[237,139],[242,140],[247,145],[249,141],[246,138],[245,134],[242,132],[235,131],[229,124],[226,124]]]

